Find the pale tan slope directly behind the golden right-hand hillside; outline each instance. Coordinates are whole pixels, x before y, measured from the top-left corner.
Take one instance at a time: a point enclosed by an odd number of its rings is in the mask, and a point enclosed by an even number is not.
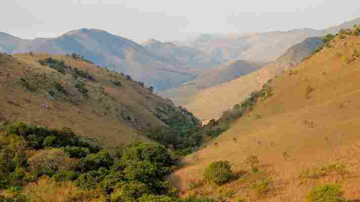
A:
[[[321,44],[322,40],[317,37],[308,38],[291,47],[277,61],[255,72],[202,90],[192,97],[186,108],[204,120],[218,118],[222,112],[238,104],[239,100],[243,100],[251,92],[259,90],[269,79],[274,78],[284,70],[294,68]],[[204,110],[205,108],[207,110]]]

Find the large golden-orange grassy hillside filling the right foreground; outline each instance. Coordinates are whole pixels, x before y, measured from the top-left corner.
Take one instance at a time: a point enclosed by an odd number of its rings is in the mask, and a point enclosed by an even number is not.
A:
[[[183,194],[304,201],[315,185],[336,183],[348,201],[357,201],[360,28],[354,34],[336,36],[322,51],[270,81],[268,96],[260,95],[228,131],[185,158],[185,168],[171,178]],[[244,163],[249,156],[258,157],[258,172]],[[198,182],[205,168],[220,160],[231,163],[238,179],[222,186]],[[191,190],[185,191],[186,186]]]

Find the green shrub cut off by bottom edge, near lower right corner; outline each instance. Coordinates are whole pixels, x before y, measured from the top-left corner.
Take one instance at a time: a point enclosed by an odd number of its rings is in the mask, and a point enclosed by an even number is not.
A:
[[[307,195],[308,202],[345,202],[340,186],[337,184],[327,184],[316,186]]]

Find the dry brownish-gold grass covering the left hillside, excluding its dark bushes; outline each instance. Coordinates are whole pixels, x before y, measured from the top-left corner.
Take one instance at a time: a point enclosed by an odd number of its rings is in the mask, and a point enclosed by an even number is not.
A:
[[[77,90],[71,91],[71,88],[74,89],[74,81],[70,74],[63,75],[38,63],[38,60],[48,57],[63,60],[73,68],[88,70],[95,77],[95,81],[85,82],[90,96],[84,98]],[[138,135],[139,132],[163,125],[153,115],[153,110],[159,105],[170,105],[169,101],[150,93],[135,81],[128,81],[119,74],[71,57],[48,54],[0,55],[0,62],[0,121],[23,121],[50,128],[69,127],[79,134],[97,138],[102,143],[118,145],[137,138],[147,141]],[[19,81],[20,78],[31,79],[41,74],[46,74],[49,82],[40,85],[35,92],[26,91]],[[110,79],[121,81],[123,86],[112,85]],[[67,98],[76,100],[76,104],[61,98],[49,99],[48,90],[55,81],[71,92]],[[100,92],[101,87],[107,95]],[[128,115],[136,121],[124,121]]]

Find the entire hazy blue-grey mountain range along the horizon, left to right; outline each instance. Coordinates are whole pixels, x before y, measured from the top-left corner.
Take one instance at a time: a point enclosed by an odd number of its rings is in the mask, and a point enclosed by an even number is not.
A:
[[[326,30],[304,28],[226,36],[203,34],[191,41],[170,43],[151,39],[143,44],[98,29],[78,29],[56,38],[33,40],[0,32],[0,52],[81,54],[97,65],[123,72],[162,91],[196,80],[204,75],[200,70],[221,69],[221,64],[229,61],[243,60],[252,64],[275,61],[292,45],[308,37],[324,36],[353,24],[360,24],[360,18]]]

